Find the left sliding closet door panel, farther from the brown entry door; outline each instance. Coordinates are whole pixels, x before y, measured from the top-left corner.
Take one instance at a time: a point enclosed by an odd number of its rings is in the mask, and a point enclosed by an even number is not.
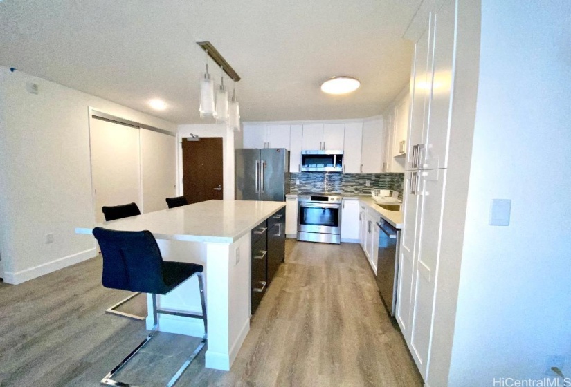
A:
[[[96,222],[101,207],[135,202],[141,208],[139,129],[91,117],[91,176]]]

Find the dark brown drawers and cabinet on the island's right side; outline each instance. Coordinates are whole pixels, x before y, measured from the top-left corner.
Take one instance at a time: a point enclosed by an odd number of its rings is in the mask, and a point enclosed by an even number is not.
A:
[[[252,230],[252,314],[284,259],[285,209],[280,209]]]

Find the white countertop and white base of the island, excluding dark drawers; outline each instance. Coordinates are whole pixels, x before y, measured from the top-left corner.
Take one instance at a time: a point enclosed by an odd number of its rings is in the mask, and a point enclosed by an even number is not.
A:
[[[204,266],[206,367],[230,370],[250,329],[251,230],[284,207],[285,202],[208,200],[97,226],[121,231],[147,229],[156,238],[165,261]],[[78,234],[92,231],[93,227],[75,229]],[[150,299],[147,296],[147,303]],[[201,310],[196,278],[157,299],[161,309],[194,313]],[[151,318],[147,317],[147,328],[151,325]],[[204,334],[201,320],[170,314],[159,314],[158,330],[193,337]]]

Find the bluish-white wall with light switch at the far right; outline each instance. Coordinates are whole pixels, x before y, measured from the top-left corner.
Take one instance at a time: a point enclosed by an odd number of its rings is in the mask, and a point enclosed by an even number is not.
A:
[[[571,377],[571,3],[482,1],[478,105],[449,386]],[[508,227],[489,226],[493,198]]]

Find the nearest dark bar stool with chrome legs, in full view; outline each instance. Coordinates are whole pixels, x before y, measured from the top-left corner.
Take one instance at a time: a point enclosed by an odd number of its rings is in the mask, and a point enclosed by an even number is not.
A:
[[[153,234],[147,230],[126,232],[96,227],[93,229],[93,236],[98,240],[103,256],[103,274],[101,279],[103,286],[111,289],[152,294],[153,305],[153,328],[151,332],[118,366],[101,380],[101,383],[108,386],[129,387],[129,384],[116,381],[113,377],[152,339],[158,325],[157,316],[159,313],[202,319],[204,323],[202,341],[167,384],[167,386],[173,386],[206,345],[206,301],[204,299],[202,279],[204,267],[194,263],[163,261],[161,250],[158,249]],[[202,314],[170,312],[156,308],[156,294],[168,294],[183,281],[194,275],[198,276]]]

